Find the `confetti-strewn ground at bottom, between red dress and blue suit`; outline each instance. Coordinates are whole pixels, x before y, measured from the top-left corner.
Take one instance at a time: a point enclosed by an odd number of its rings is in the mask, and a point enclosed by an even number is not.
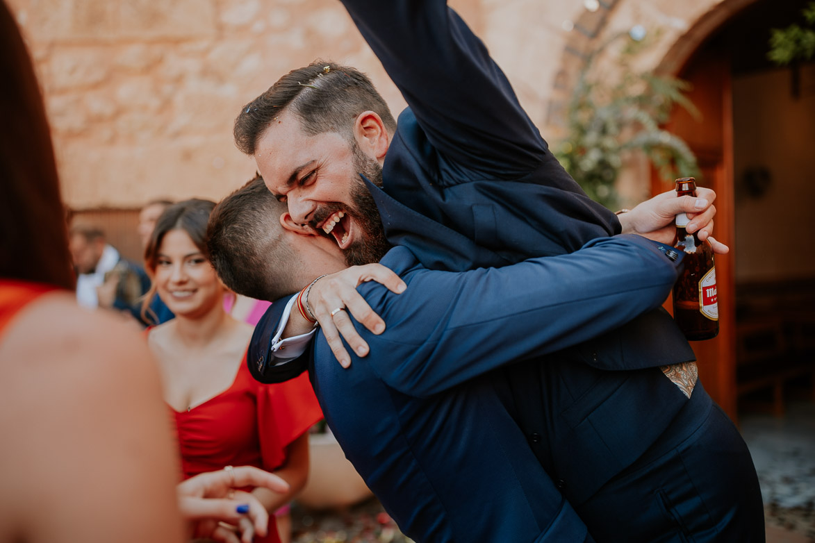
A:
[[[292,532],[293,543],[412,543],[375,499],[343,511],[312,511],[294,505]]]

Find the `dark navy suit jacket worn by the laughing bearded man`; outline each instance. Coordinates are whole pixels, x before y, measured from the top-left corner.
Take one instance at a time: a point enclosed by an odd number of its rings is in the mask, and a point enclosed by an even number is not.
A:
[[[369,184],[392,243],[429,268],[460,270],[565,254],[619,232],[615,215],[557,163],[486,47],[444,0],[344,4],[408,104],[385,157],[383,190]],[[597,276],[587,268],[574,281]],[[630,296],[640,296],[630,285]],[[545,363],[515,366],[502,383],[504,404],[575,505],[639,458],[688,405],[657,369],[695,359],[667,312],[621,317],[619,325]],[[560,395],[548,388],[562,372],[569,390]],[[593,408],[566,421],[563,409],[581,393]],[[549,404],[555,396],[561,402]],[[701,388],[694,394],[694,402],[709,401]],[[558,428],[575,432],[584,448],[535,437]],[[608,452],[599,466],[591,463],[598,447]]]

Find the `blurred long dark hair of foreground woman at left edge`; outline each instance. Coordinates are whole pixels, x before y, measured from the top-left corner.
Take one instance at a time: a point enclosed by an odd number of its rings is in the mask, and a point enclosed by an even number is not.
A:
[[[0,277],[73,290],[51,131],[20,29],[0,0]]]

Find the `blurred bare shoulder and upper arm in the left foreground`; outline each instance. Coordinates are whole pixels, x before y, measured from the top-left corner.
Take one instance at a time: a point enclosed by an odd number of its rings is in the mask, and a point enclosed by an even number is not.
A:
[[[0,397],[13,414],[0,417],[7,461],[0,479],[14,497],[0,497],[0,508],[18,526],[45,534],[32,539],[111,541],[121,526],[128,528],[121,541],[180,532],[172,513],[177,467],[170,426],[138,326],[115,313],[81,309],[69,292],[40,296],[4,330]],[[107,520],[95,523],[87,504],[111,488],[126,489],[147,509],[97,500],[95,518]],[[55,514],[40,518],[37,510]],[[155,519],[155,527],[144,525],[145,518]]]

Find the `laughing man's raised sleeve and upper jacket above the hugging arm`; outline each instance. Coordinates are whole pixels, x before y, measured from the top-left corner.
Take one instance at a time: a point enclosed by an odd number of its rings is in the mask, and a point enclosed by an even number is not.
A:
[[[391,243],[456,271],[619,234],[617,217],[548,151],[504,73],[444,0],[344,3],[409,105],[385,156],[384,191],[372,189]],[[423,229],[416,215],[475,247]]]

